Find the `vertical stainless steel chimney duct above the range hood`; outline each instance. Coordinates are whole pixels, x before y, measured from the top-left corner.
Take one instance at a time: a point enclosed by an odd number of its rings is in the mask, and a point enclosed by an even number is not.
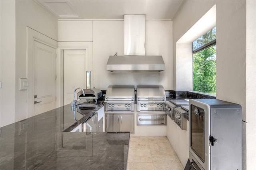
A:
[[[124,15],[124,55],[145,55],[145,15]]]

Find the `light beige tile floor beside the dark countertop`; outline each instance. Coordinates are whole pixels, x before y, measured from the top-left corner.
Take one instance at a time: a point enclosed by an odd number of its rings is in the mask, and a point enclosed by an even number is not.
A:
[[[166,137],[130,137],[127,170],[184,170]]]

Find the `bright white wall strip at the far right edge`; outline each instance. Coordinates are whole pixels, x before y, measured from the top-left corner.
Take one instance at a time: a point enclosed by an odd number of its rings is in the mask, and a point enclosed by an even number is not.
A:
[[[256,167],[256,1],[246,1],[246,164]]]

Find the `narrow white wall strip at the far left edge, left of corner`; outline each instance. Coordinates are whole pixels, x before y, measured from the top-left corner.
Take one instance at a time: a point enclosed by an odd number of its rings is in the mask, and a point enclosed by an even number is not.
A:
[[[0,1],[0,127],[15,121],[15,2]]]

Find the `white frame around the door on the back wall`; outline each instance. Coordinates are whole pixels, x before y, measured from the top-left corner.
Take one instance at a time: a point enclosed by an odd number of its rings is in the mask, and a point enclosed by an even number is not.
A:
[[[57,79],[56,79],[56,107],[63,106],[63,62],[64,62],[64,50],[85,50],[86,51],[86,69],[91,71],[91,87],[93,87],[93,43],[92,42],[58,42],[57,49]]]

